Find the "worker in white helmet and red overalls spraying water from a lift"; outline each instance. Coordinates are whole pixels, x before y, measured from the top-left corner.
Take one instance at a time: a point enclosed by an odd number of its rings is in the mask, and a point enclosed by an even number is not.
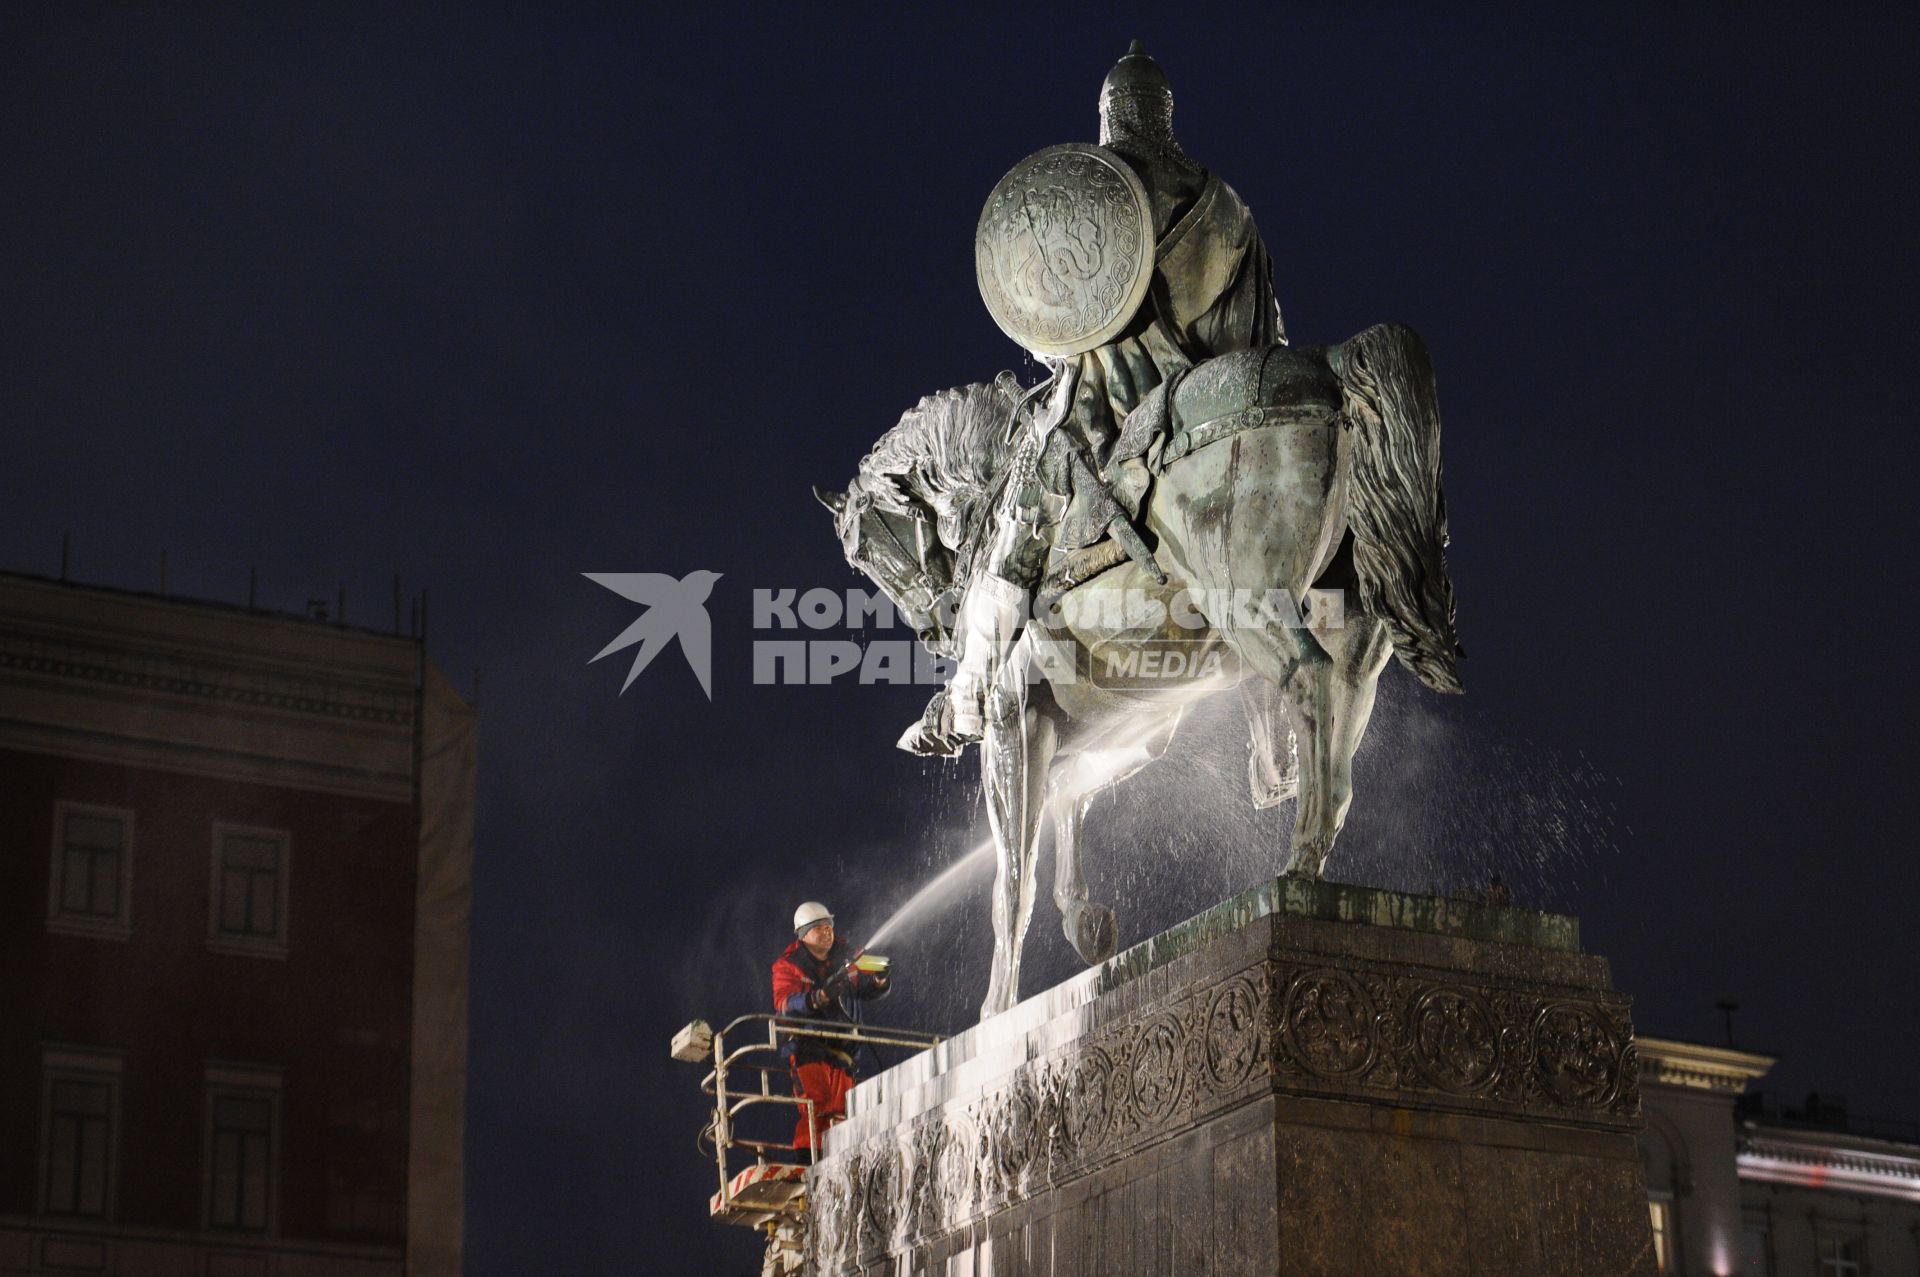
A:
[[[883,997],[887,976],[852,970],[854,952],[833,935],[833,914],[820,901],[793,910],[793,943],[774,960],[774,1014],[797,1020],[854,1024],[858,1002]],[[789,1037],[781,1052],[793,1066],[793,1093],[814,1102],[814,1125],[826,1131],[847,1116],[852,1091],[852,1043]],[[793,1131],[795,1148],[810,1148],[806,1110]]]

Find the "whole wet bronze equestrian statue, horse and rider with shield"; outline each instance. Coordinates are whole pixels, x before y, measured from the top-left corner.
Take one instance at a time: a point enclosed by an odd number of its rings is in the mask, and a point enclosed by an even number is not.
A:
[[[1050,376],[927,396],[820,497],[849,563],[956,661],[900,747],[979,743],[991,1016],[1020,997],[1046,818],[1066,935],[1114,954],[1087,807],[1200,697],[1238,687],[1252,801],[1294,801],[1284,872],[1317,879],[1386,663],[1459,691],[1461,649],[1425,346],[1400,325],[1286,342],[1254,215],[1179,146],[1139,46],[1102,84],[1098,144],[993,188],[975,269]]]

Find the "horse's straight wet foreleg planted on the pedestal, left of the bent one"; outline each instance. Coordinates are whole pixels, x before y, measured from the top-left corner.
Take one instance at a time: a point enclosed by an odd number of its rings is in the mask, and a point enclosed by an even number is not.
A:
[[[1020,678],[1018,666],[1014,680]],[[989,693],[987,735],[981,741],[981,787],[993,828],[998,870],[993,878],[993,977],[981,1020],[1020,1000],[1020,952],[1033,920],[1033,878],[1044,805],[1046,768],[1058,737],[1054,724],[1010,695],[1006,678]]]

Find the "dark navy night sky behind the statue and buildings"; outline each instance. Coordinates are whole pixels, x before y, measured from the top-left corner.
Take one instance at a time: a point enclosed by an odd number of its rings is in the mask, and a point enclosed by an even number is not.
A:
[[[668,1035],[762,1010],[799,901],[858,939],[985,818],[972,759],[893,749],[925,689],[755,686],[753,590],[864,584],[810,486],[1035,376],[973,223],[1131,36],[1294,340],[1398,319],[1440,374],[1469,695],[1390,670],[1331,874],[1500,872],[1644,1033],[1724,1041],[1734,997],[1782,1098],[1920,1118],[1910,8],[695,8],[0,15],[0,568],[71,534],[83,582],[165,551],[367,626],[397,572],[480,670],[470,1273],[756,1264]],[[588,659],[637,607],[582,572],[695,568],[712,701],[678,651],[620,695]],[[1092,818],[1123,943],[1284,860],[1200,718]],[[975,874],[883,1018],[964,1027],[989,943]],[[1044,899],[1031,954],[1073,970]]]

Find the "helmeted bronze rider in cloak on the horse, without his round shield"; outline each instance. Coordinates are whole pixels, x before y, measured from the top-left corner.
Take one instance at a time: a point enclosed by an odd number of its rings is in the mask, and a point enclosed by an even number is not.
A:
[[[985,734],[987,693],[1020,634],[1046,568],[1050,526],[1066,505],[1043,482],[1046,434],[1068,432],[1079,455],[1102,467],[1121,422],[1162,382],[1215,355],[1286,340],[1254,215],[1173,138],[1173,90],[1139,40],[1100,84],[1100,146],[1119,154],[1146,188],[1152,284],[1117,336],[1050,361],[1050,401],[1021,440],[1014,478],[983,532],[991,547],[960,601],[958,670],[900,739],[914,753],[958,753]]]

